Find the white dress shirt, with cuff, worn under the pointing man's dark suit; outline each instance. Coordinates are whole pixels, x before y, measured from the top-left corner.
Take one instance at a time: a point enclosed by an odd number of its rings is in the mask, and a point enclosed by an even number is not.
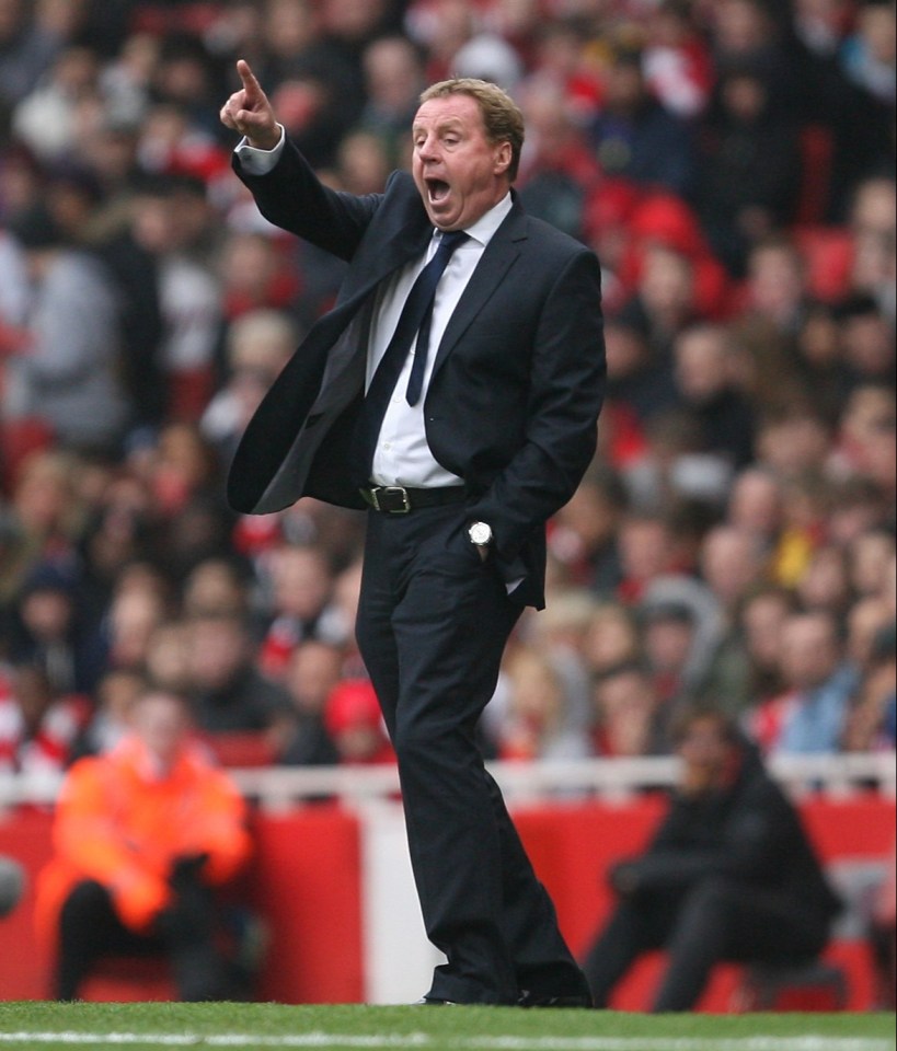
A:
[[[284,143],[283,129],[280,141],[273,150],[257,150],[243,139],[237,147],[240,163],[253,175],[265,175],[277,163]],[[464,232],[469,235],[469,240],[460,244],[449,259],[436,289],[436,299],[433,304],[433,324],[423,392],[416,405],[409,405],[405,400],[405,389],[414,360],[415,348],[412,346],[387,408],[377,449],[373,453],[371,482],[377,485],[404,485],[413,488],[426,488],[463,484],[461,478],[447,471],[436,461],[427,444],[424,420],[427,390],[433,374],[436,353],[448,327],[449,320],[486,245],[505,220],[510,208],[511,198],[508,193],[485,216],[467,228]],[[368,339],[368,385],[389,346],[392,334],[395,332],[411,287],[421,270],[433,258],[441,236],[442,234],[438,230],[434,230],[426,253],[390,275],[377,292],[377,302]]]

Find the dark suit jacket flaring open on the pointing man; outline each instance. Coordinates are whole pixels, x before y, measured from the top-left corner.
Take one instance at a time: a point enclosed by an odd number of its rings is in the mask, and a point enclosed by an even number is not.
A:
[[[379,282],[433,234],[410,175],[355,197],[323,186],[287,142],[273,172],[238,175],[272,222],[349,262],[334,309],[309,332],[250,423],[231,505],[266,513],[313,496],[364,507],[350,442],[364,396]],[[573,495],[596,446],[605,382],[594,253],[514,207],[490,242],[434,361],[424,415],[436,460],[464,480],[471,520],[492,526],[506,580],[541,605],[544,523]]]

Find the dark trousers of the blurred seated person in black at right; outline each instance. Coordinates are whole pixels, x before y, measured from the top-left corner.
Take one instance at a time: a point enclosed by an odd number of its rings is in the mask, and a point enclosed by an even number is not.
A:
[[[818,956],[827,938],[828,922],[793,896],[709,877],[685,894],[623,901],[584,969],[596,1007],[607,1007],[642,954],[666,949],[669,962],[653,1009],[689,1010],[716,963],[802,963]]]

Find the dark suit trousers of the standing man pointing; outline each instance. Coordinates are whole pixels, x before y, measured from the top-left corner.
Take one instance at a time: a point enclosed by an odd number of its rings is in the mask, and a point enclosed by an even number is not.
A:
[[[399,760],[424,924],[448,958],[427,996],[514,1004],[584,995],[475,740],[519,616],[460,505],[371,511],[357,635]]]

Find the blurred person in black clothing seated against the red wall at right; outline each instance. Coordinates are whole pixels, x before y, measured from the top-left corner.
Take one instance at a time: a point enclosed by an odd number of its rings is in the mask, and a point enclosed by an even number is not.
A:
[[[759,755],[717,713],[677,731],[681,782],[648,850],[617,865],[619,904],[584,971],[597,1007],[635,960],[665,949],[655,1012],[694,1006],[721,961],[814,959],[840,903],[794,808]]]

